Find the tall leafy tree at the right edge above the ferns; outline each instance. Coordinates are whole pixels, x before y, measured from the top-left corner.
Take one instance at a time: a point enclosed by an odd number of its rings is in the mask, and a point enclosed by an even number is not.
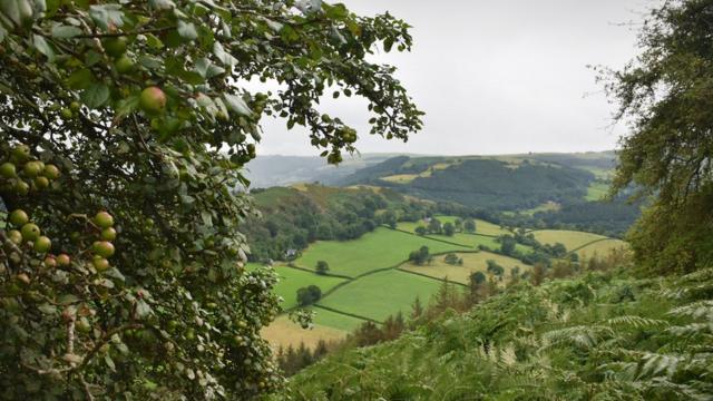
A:
[[[656,198],[631,235],[655,271],[713,262],[712,26],[710,0],[666,1],[644,25],[641,56],[607,85],[632,126],[613,189],[634,183]]]

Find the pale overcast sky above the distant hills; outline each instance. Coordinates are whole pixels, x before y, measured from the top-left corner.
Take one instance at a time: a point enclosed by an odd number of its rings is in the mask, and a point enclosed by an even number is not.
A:
[[[605,150],[612,126],[587,65],[619,68],[636,53],[636,27],[654,0],[343,0],[353,11],[389,11],[411,26],[410,53],[377,57],[426,111],[408,144],[368,134],[365,102],[325,105],[360,133],[362,153],[514,154]],[[267,121],[267,120],[265,120]],[[306,134],[264,125],[258,153],[318,155]]]

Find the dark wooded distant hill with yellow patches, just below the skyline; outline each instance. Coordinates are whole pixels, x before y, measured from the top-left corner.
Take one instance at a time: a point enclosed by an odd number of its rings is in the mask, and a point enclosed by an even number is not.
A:
[[[527,209],[584,199],[597,179],[592,169],[603,174],[612,167],[611,154],[586,155],[400,156],[358,170],[341,184],[380,185],[481,208]]]

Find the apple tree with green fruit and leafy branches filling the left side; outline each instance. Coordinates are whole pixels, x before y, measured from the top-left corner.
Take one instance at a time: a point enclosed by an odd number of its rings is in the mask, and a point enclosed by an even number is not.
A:
[[[49,239],[0,226],[2,398],[279,387],[258,334],[275,277],[243,268],[251,203],[233,188],[263,116],[306,127],[330,163],[354,149],[354,129],[318,109],[328,92],[364,97],[372,134],[418,130],[394,68],[368,60],[408,50],[408,28],[320,1],[0,2],[0,196]],[[100,211],[111,251],[92,246]]]

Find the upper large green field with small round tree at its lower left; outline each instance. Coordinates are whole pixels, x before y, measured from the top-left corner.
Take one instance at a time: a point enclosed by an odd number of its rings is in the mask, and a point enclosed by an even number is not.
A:
[[[409,253],[423,245],[431,253],[465,248],[380,227],[354,241],[316,242],[304,251],[295,264],[313,270],[318,261],[325,261],[330,265],[330,273],[354,277],[373,270],[395,266],[407,260]]]

